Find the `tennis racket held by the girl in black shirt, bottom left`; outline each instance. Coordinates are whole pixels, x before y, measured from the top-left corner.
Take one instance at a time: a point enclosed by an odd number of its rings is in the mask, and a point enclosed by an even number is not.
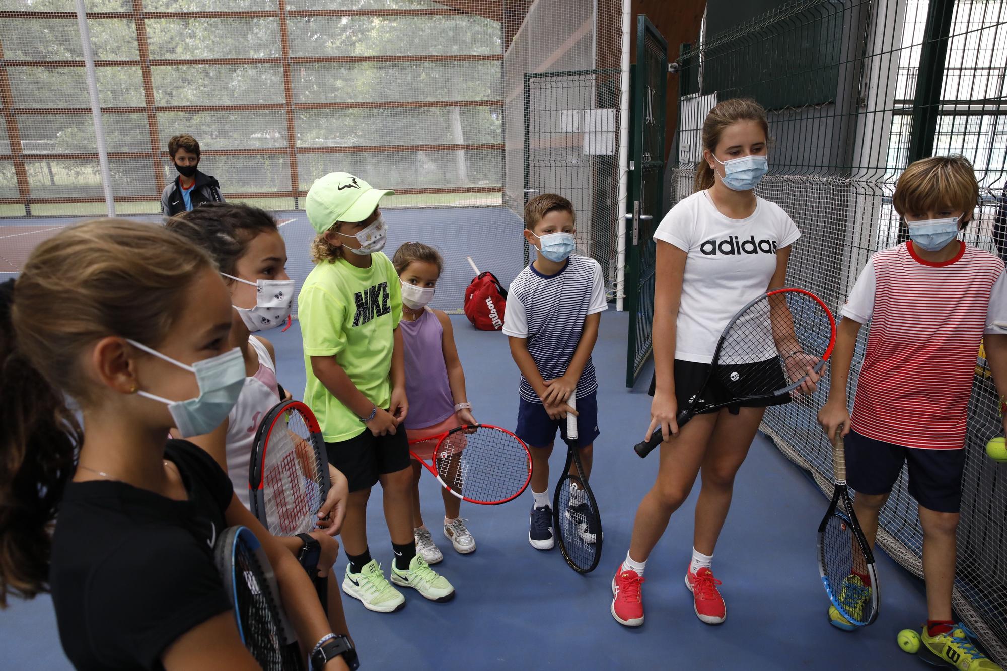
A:
[[[213,545],[213,559],[235,610],[238,634],[255,661],[266,671],[304,669],[273,567],[252,530],[225,529]]]

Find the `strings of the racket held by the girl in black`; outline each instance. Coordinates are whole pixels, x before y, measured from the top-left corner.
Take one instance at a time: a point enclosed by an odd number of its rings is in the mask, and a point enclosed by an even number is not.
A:
[[[245,647],[267,671],[300,668],[299,660],[291,659],[277,605],[259,559],[241,542],[235,548],[235,600]]]

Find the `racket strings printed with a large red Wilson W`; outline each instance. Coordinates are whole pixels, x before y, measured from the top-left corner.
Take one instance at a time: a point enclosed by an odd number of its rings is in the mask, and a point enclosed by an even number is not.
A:
[[[324,467],[304,417],[297,410],[287,412],[270,431],[266,446],[263,483],[271,534],[291,536],[314,528],[323,503]]]

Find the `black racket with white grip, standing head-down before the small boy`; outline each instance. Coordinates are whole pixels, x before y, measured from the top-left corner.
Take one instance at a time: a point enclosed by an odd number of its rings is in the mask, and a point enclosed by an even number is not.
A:
[[[570,395],[567,405],[577,409],[574,394]],[[567,413],[567,438],[577,439],[577,417],[572,413]],[[560,552],[570,568],[578,573],[590,573],[601,559],[601,516],[578,452],[577,447],[567,447],[563,477],[553,495],[553,528],[559,531]],[[577,475],[570,474],[571,464]]]

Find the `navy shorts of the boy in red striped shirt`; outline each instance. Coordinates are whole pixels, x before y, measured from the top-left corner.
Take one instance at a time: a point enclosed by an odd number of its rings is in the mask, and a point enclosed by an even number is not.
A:
[[[957,513],[962,507],[965,449],[902,447],[850,431],[846,436],[846,482],[856,492],[891,492],[909,466],[909,494],[920,506],[938,513]]]

